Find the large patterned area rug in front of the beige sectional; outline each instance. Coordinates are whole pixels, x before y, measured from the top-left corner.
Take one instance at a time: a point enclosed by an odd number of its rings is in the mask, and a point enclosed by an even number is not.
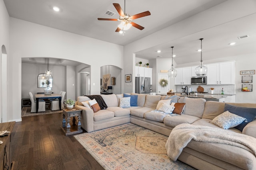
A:
[[[74,136],[106,170],[194,170],[167,155],[167,136],[126,123]]]

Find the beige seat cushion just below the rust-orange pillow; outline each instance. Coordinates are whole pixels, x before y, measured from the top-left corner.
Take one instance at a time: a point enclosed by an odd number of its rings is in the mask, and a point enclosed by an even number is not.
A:
[[[199,117],[191,115],[176,115],[176,116],[166,116],[164,117],[164,124],[170,127],[176,127],[182,123],[194,123],[199,120]]]

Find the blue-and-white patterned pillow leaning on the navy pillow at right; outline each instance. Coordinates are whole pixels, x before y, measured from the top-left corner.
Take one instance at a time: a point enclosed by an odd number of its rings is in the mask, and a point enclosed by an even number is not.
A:
[[[229,129],[240,125],[246,118],[225,111],[224,113],[215,117],[211,123],[223,128]]]

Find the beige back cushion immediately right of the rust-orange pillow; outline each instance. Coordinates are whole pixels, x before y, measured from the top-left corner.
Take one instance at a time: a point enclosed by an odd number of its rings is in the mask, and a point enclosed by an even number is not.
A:
[[[186,106],[184,108],[184,114],[202,118],[202,115],[204,113],[205,102],[206,100],[203,98],[198,98],[198,99],[186,98],[185,99]]]

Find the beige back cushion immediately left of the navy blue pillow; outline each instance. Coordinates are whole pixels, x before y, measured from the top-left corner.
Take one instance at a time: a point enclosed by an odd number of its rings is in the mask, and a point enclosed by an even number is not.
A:
[[[204,113],[202,115],[202,118],[214,119],[214,117],[224,112],[224,107],[224,102],[207,101],[204,105]]]

